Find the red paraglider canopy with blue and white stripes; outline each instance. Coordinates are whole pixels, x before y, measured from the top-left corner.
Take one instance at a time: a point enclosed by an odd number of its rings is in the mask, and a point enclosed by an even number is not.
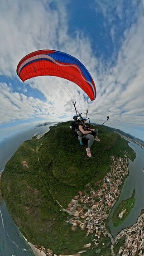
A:
[[[86,67],[75,57],[55,50],[39,50],[22,58],[17,75],[25,80],[38,76],[62,77],[76,83],[91,101],[96,98],[95,83]]]

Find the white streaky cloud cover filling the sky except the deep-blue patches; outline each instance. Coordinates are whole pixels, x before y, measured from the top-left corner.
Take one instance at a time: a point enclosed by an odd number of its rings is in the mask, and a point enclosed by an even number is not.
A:
[[[102,123],[110,116],[109,125],[124,127],[144,126],[144,18],[139,13],[137,24],[133,24],[124,33],[122,48],[119,51],[115,67],[96,59],[91,44],[82,32],[77,31],[76,38],[68,34],[68,13],[62,1],[58,1],[58,10],[51,10],[51,1],[25,0],[2,1],[0,6],[0,74],[16,77],[19,60],[31,51],[43,48],[58,49],[67,52],[82,63],[91,73],[97,89],[96,101],[90,104],[91,121]],[[108,13],[109,22],[113,21],[111,10],[116,10],[122,20],[122,6],[99,1],[99,11]],[[108,10],[108,12],[107,12]],[[136,13],[136,10],[135,10]],[[135,14],[136,15],[136,14]],[[115,28],[111,28],[113,37]],[[67,115],[70,118],[74,108],[70,99],[62,92],[62,87],[70,94],[76,93],[77,109],[84,115],[86,101],[83,92],[77,93],[77,86],[61,82],[61,79],[37,77],[22,84],[23,90],[13,84],[0,83],[0,121],[8,123],[15,120],[27,120],[34,116],[48,118]],[[64,80],[63,80],[64,81]],[[29,82],[29,83],[28,83]],[[46,97],[47,102],[27,97],[24,93],[31,86]],[[71,92],[71,88],[72,92]],[[75,88],[75,89],[74,89]],[[70,90],[70,91],[69,91]]]

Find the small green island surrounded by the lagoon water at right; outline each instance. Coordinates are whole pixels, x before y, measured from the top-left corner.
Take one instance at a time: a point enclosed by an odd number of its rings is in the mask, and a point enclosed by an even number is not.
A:
[[[125,220],[125,218],[130,214],[131,209],[134,207],[134,202],[135,202],[134,195],[135,195],[135,189],[132,193],[132,196],[122,201],[119,204],[119,207],[115,210],[112,216],[112,221],[115,227],[118,227]],[[122,218],[120,219],[119,214],[122,212],[123,212],[123,215],[122,215]]]

